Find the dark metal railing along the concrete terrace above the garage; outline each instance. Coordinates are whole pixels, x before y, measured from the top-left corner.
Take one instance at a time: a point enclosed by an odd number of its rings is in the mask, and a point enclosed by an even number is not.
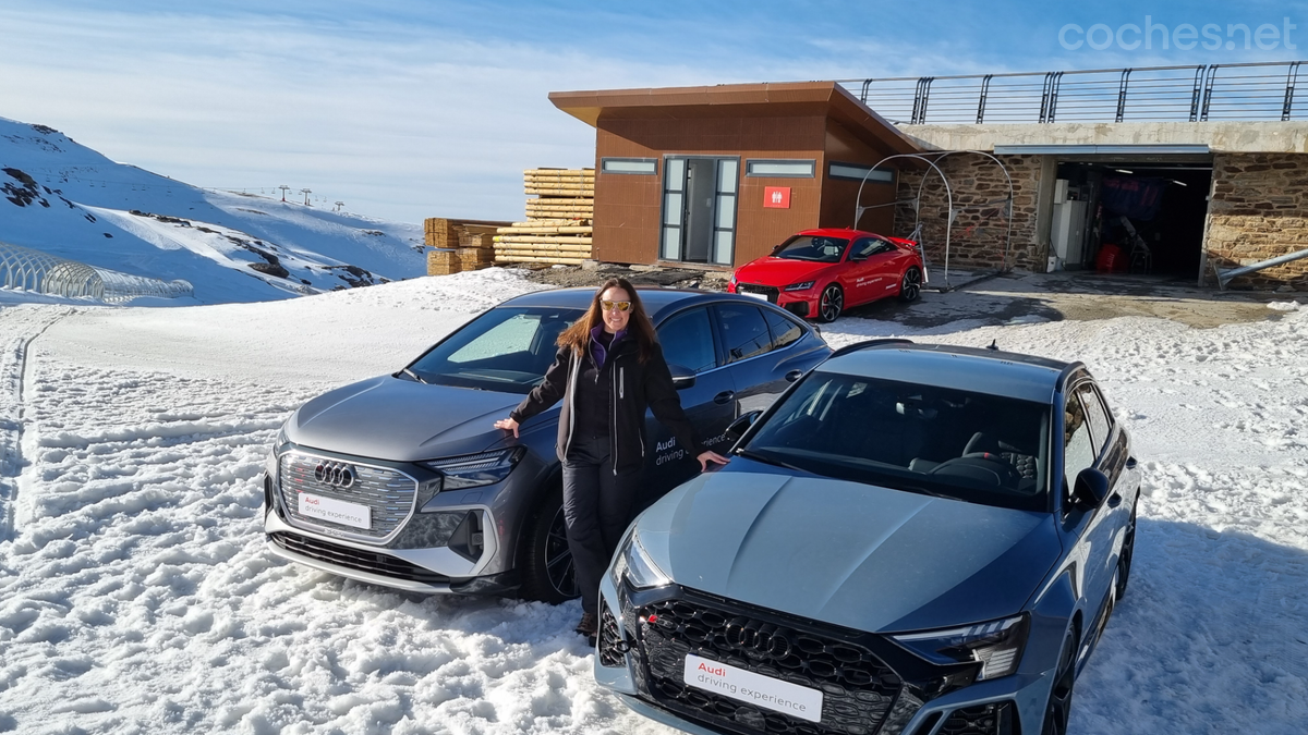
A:
[[[1138,67],[837,82],[895,123],[1308,119],[1303,61]]]

